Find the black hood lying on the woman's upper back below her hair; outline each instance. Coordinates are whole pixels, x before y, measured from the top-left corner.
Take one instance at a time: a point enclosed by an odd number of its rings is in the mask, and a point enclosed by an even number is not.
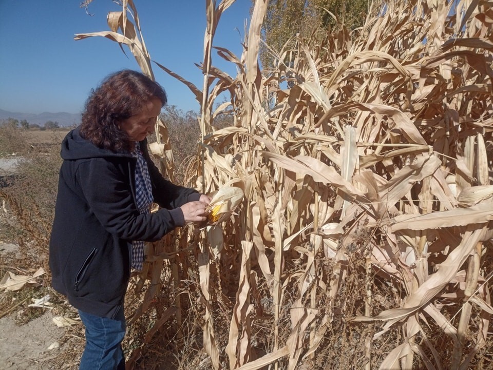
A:
[[[115,153],[108,149],[98,148],[89,140],[81,137],[80,126],[67,133],[62,141],[62,150],[60,154],[64,160],[131,157],[130,153]]]

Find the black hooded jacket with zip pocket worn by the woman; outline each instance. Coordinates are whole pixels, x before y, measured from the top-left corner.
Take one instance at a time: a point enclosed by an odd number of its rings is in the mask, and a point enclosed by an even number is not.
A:
[[[86,313],[113,318],[130,277],[133,240],[158,241],[184,225],[179,208],[200,194],[165,180],[146,159],[154,202],[162,208],[141,215],[135,201],[136,158],[100,149],[70,131],[62,142],[62,167],[50,239],[53,288]]]

